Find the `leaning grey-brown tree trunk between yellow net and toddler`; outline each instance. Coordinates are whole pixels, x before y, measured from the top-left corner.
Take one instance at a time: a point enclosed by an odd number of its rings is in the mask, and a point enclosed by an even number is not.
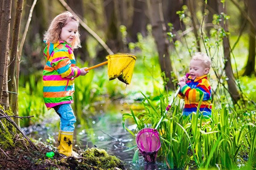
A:
[[[165,73],[164,82],[166,90],[175,89],[172,82],[171,72],[172,63],[169,55],[169,42],[167,40],[166,26],[163,20],[163,10],[161,0],[147,0],[148,11],[150,11],[150,21],[152,25],[152,34],[157,44],[159,63],[161,71]],[[166,78],[166,79],[165,79]]]

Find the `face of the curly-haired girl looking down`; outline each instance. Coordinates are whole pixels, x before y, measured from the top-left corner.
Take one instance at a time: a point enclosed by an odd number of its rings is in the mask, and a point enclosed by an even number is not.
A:
[[[76,39],[78,30],[78,23],[76,21],[69,21],[63,28],[61,28],[60,40],[66,41],[70,45]]]

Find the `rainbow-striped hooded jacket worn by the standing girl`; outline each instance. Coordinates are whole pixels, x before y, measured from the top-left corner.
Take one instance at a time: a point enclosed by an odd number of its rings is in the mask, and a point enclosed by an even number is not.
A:
[[[75,77],[80,76],[71,46],[64,41],[45,42],[43,71],[44,102],[49,110],[56,105],[73,103]]]

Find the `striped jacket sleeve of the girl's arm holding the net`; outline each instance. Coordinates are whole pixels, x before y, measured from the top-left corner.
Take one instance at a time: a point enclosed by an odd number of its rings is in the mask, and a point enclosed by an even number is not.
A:
[[[71,61],[68,58],[68,56],[68,51],[55,52],[53,55],[51,65],[55,68],[58,74],[61,75],[62,78],[79,77],[81,73],[79,67],[72,67]]]

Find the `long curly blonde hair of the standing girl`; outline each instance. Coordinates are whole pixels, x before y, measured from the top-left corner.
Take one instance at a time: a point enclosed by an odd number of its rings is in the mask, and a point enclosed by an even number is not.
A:
[[[58,42],[60,39],[61,28],[63,28],[69,21],[76,21],[79,25],[78,18],[71,14],[69,11],[65,11],[61,14],[58,14],[49,25],[47,32],[44,34],[44,40],[52,43]],[[72,48],[81,47],[79,39],[79,31],[76,32],[76,39],[73,41]]]

